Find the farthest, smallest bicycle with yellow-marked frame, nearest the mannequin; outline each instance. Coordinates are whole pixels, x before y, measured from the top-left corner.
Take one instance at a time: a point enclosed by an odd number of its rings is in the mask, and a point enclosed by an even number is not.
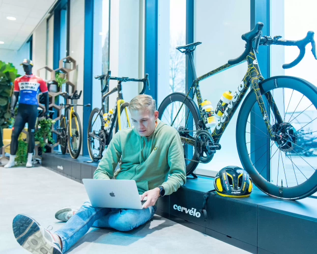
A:
[[[62,153],[65,154],[68,147],[70,156],[73,159],[76,159],[81,150],[82,130],[80,119],[74,106],[90,107],[90,104],[80,105],[73,103],[73,100],[78,100],[80,98],[81,91],[79,94],[75,91],[72,95],[64,92],[61,96],[64,97],[65,102],[61,103],[60,106],[65,107],[65,113],[61,116],[60,126],[57,128],[57,136],[60,141]],[[70,100],[71,103],[67,104],[67,100]]]

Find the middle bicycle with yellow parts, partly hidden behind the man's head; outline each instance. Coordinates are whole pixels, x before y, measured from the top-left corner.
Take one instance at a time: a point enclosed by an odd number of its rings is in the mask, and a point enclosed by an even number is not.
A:
[[[122,93],[122,82],[143,82],[143,89],[140,94],[146,90],[146,86],[150,89],[149,74],[144,78],[129,78],[129,77],[111,77],[111,71],[107,75],[95,76],[101,81],[101,93],[106,92],[109,87],[109,80],[118,80],[117,87],[102,96],[102,108],[94,108],[89,117],[88,123],[88,151],[93,161],[98,161],[102,158],[102,153],[112,138],[113,130],[115,132],[131,127],[128,106],[129,102],[125,102]],[[105,86],[103,87],[103,80]],[[117,101],[113,109],[106,113],[105,99],[114,92],[118,92]],[[120,108],[120,110],[117,110]],[[116,126],[116,127],[114,127]]]

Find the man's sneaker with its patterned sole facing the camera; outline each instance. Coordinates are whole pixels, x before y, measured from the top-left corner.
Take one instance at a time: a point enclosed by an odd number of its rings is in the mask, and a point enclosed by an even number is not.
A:
[[[52,233],[31,217],[18,214],[13,219],[13,233],[17,242],[34,254],[62,254],[61,246]]]

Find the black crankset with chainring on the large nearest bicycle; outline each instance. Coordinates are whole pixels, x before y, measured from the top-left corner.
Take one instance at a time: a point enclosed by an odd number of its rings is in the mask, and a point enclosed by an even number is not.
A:
[[[199,130],[195,137],[195,153],[202,163],[208,163],[214,157],[216,150],[219,150],[220,145],[214,143],[210,133],[206,130]]]

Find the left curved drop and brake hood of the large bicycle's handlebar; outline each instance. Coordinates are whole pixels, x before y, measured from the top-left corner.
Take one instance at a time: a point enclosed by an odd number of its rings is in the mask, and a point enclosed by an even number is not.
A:
[[[250,32],[243,34],[241,36],[242,40],[244,40],[246,42],[245,50],[240,55],[240,57],[238,57],[236,59],[229,60],[228,61],[229,65],[239,64],[244,59],[246,59],[247,55],[252,50],[252,41],[256,38],[255,44],[258,44],[260,42],[263,26],[264,26],[264,24],[262,22],[257,22],[256,25],[254,26],[253,30],[251,30]]]

